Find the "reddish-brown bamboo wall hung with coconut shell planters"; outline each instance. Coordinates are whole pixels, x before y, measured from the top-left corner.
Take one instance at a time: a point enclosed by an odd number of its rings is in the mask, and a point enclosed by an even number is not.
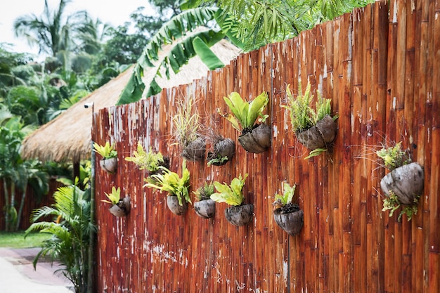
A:
[[[97,200],[112,186],[131,197],[126,218],[97,201],[98,292],[440,292],[439,11],[434,1],[376,2],[242,54],[193,84],[96,113],[93,141],[115,143],[119,158],[114,175],[97,162]],[[332,114],[339,115],[332,152],[311,159],[304,159],[308,150],[281,107],[286,85],[295,91],[307,81],[332,98]],[[245,152],[238,131],[216,114],[227,111],[223,97],[232,91],[246,98],[269,93],[267,152]],[[146,174],[124,161],[141,141],[171,157],[180,174],[172,116],[190,96],[205,122],[214,118],[237,143],[234,159],[222,167],[187,162],[192,190],[248,173],[245,202],[254,204],[248,226],[228,223],[226,204],[216,204],[213,219],[193,209],[172,214],[166,195],[143,188]],[[425,190],[410,222],[381,211],[385,170],[372,150],[394,141],[425,167]],[[295,237],[273,221],[271,203],[283,182],[297,183],[304,210]]]

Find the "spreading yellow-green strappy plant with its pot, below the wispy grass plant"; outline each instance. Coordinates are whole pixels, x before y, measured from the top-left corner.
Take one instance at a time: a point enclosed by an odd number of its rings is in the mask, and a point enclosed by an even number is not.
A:
[[[160,166],[163,173],[157,173],[145,178],[147,182],[144,187],[156,188],[168,193],[167,206],[174,214],[181,216],[188,209],[188,202],[192,204],[189,195],[190,171],[186,169],[186,161],[183,161],[182,176]]]

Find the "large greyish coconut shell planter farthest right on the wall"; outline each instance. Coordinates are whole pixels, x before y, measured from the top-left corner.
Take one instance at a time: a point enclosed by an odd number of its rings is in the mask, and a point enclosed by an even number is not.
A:
[[[415,197],[423,192],[425,172],[418,163],[405,164],[385,175],[380,188],[389,197],[392,190],[401,204],[413,204]]]

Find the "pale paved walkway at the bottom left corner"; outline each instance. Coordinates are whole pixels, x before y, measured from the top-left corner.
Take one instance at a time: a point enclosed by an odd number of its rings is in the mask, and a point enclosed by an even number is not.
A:
[[[72,293],[72,283],[63,275],[53,274],[60,266],[40,259],[37,270],[32,261],[40,248],[0,248],[1,293]]]

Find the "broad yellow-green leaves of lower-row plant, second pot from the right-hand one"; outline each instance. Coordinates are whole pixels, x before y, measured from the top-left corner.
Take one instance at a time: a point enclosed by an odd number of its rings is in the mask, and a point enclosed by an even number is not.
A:
[[[245,180],[248,174],[244,177],[238,176],[238,178],[233,178],[231,184],[220,183],[219,181],[214,182],[214,187],[217,190],[216,193],[211,195],[211,200],[214,202],[226,202],[232,206],[238,206],[242,204],[245,200],[245,195],[243,195],[242,188],[245,185]]]

